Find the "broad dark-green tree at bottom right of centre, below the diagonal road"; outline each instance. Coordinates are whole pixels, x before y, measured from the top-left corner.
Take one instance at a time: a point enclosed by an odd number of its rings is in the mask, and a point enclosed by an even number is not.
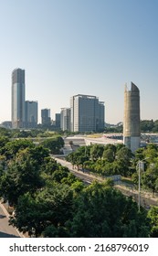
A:
[[[149,237],[146,211],[107,184],[93,183],[77,198],[71,237]]]

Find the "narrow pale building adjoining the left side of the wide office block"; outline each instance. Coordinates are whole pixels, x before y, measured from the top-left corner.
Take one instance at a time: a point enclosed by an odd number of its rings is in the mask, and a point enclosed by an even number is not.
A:
[[[70,109],[62,108],[60,112],[60,128],[62,131],[70,131]]]

